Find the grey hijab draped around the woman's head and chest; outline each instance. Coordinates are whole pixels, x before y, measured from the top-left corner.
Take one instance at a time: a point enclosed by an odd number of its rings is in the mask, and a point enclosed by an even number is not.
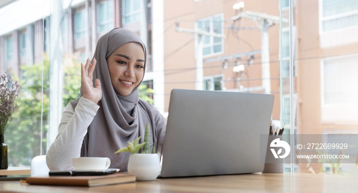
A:
[[[121,170],[126,170],[130,153],[114,153],[125,147],[127,141],[133,141],[139,136],[142,136],[140,142],[143,142],[147,123],[151,127],[151,148],[153,144],[158,147],[154,117],[159,112],[152,111],[147,102],[139,99],[138,87],[128,96],[121,96],[113,89],[110,81],[106,59],[127,42],[140,43],[146,59],[145,45],[140,37],[130,30],[115,28],[98,40],[93,56],[97,60],[93,81],[95,83],[96,78],[100,79],[102,99],[98,102],[100,108],[88,127],[81,148],[81,157],[108,157],[111,160],[110,168]],[[144,69],[145,67],[146,61]],[[71,102],[74,109],[78,100]]]

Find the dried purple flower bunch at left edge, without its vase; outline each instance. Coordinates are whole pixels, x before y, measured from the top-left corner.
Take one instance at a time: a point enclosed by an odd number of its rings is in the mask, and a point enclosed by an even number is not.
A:
[[[4,135],[12,113],[18,109],[18,90],[20,85],[13,81],[8,73],[0,76],[0,135]]]

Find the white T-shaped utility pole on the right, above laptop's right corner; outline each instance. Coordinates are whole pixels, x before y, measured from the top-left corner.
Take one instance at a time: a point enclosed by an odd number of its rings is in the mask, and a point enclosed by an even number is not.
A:
[[[268,30],[274,24],[280,23],[280,17],[268,15],[266,13],[258,13],[253,11],[240,12],[238,15],[231,17],[234,22],[241,18],[252,19],[255,22],[261,22],[258,28],[261,30],[261,73],[262,73],[262,87],[265,88],[265,93],[271,93],[271,75],[270,75],[270,48],[269,48],[269,33]],[[282,19],[282,22],[287,22]]]

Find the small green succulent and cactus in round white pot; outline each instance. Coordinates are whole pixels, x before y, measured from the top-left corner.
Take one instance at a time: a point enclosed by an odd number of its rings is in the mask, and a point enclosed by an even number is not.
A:
[[[159,155],[155,154],[155,146],[153,145],[152,153],[150,153],[150,128],[147,124],[144,134],[144,142],[139,144],[139,139],[127,142],[127,146],[119,149],[115,154],[120,152],[132,153],[128,161],[128,172],[137,175],[137,180],[148,181],[155,180],[160,171]],[[137,154],[139,149],[143,147],[141,154]]]

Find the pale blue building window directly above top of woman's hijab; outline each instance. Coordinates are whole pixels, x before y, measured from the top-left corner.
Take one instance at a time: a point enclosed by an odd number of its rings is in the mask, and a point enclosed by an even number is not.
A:
[[[98,4],[98,32],[109,31],[113,28],[113,0]]]

